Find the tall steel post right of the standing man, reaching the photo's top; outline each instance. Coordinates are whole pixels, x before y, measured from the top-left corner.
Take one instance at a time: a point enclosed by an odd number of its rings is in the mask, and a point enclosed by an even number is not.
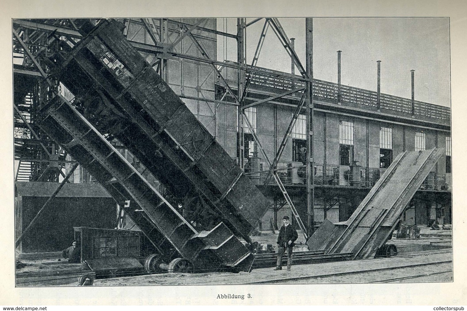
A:
[[[308,237],[314,233],[314,183],[313,183],[313,19],[306,18],[306,209]]]

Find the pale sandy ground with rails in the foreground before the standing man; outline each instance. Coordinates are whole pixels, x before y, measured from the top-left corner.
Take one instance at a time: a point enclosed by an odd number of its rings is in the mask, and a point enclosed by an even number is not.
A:
[[[156,274],[147,276],[127,276],[111,279],[98,279],[95,286],[115,285],[188,285],[188,284],[245,284],[245,283],[366,283],[399,276],[421,275],[431,271],[452,270],[452,262],[430,266],[417,266],[396,270],[368,271],[365,274],[346,274],[344,276],[326,276],[327,274],[349,273],[361,270],[396,268],[430,262],[452,260],[452,253],[413,255],[382,259],[367,259],[350,262],[326,262],[292,266],[292,271],[285,269],[274,271],[273,268],[255,269],[251,273],[202,273],[202,274]],[[434,270],[435,269],[435,270]],[[401,271],[398,271],[401,270]],[[396,271],[398,271],[396,273]],[[443,275],[445,276],[445,275]],[[282,278],[293,278],[279,281]],[[449,280],[446,280],[449,281]],[[422,281],[426,282],[426,281]]]

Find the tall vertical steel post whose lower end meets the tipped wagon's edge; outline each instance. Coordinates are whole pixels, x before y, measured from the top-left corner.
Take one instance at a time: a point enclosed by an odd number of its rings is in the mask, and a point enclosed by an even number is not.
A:
[[[241,94],[243,94],[243,88],[245,87],[245,19],[244,18],[237,18],[237,62],[240,64],[241,68],[238,69],[237,72],[237,98],[240,99]],[[237,146],[237,155],[238,155],[238,165],[240,166],[241,170],[244,169],[244,144],[245,144],[245,137],[244,137],[244,121],[243,121],[243,102],[238,103],[239,106],[237,110],[238,116],[238,146]]]

